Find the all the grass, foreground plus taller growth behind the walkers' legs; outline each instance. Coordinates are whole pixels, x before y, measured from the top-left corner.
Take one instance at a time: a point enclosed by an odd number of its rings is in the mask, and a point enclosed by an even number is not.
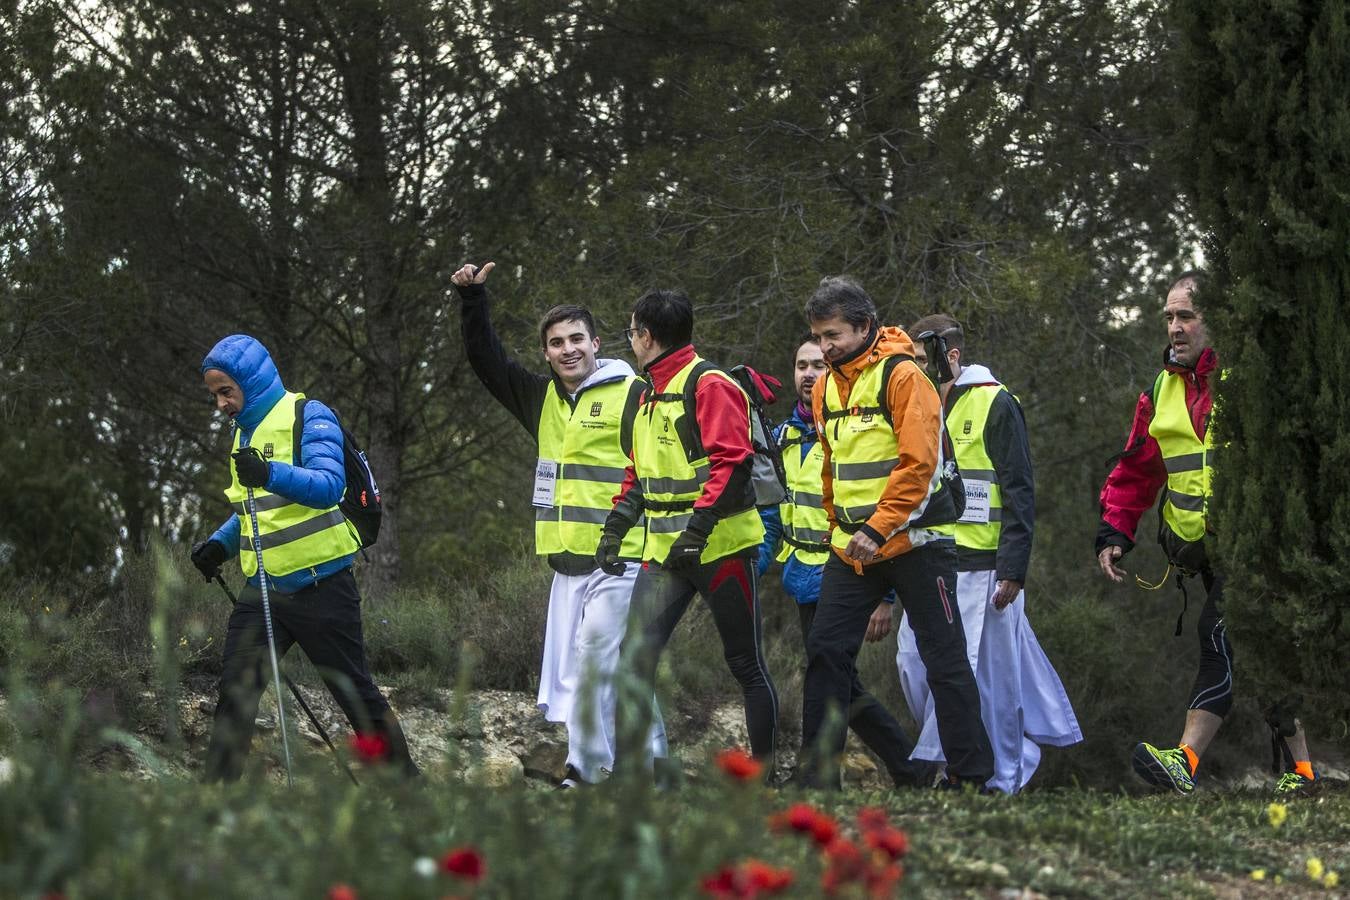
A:
[[[367,599],[377,680],[405,706],[444,707],[452,684],[533,690],[547,582],[547,569],[522,564]],[[1258,887],[1253,873],[1284,895],[1330,893],[1311,877],[1310,858],[1323,878],[1350,877],[1343,789],[1289,803],[1278,826],[1269,795],[1215,789],[1212,779],[1191,797],[1138,793],[1129,743],[1170,727],[1180,706],[1166,692],[1185,690],[1174,684],[1187,675],[1180,644],[1139,638],[1141,629],[1170,626],[1174,611],[1161,603],[1142,623],[1081,596],[1054,598],[1033,615],[1089,739],[1048,752],[1040,789],[983,797],[801,795],[736,784],[711,766],[671,792],[622,783],[568,793],[533,784],[487,789],[454,775],[473,753],[464,737],[473,729],[456,727],[463,714],[455,710],[440,719],[448,758],[417,785],[374,769],[352,788],[315,748],[297,754],[290,791],[275,777],[201,785],[181,775],[185,745],[171,703],[184,683],[209,685],[219,675],[228,613],[219,587],[202,584],[184,559],[161,555],[128,560],[111,591],[24,583],[4,594],[3,897],[324,897],[336,884],[362,897],[684,897],[699,896],[701,880],[720,866],[747,858],[790,869],[788,896],[818,896],[819,851],[767,827],[772,814],[803,800],[841,822],[859,807],[884,807],[909,833],[903,891],[911,896],[1239,896]],[[764,609],[791,741],[801,691],[796,611],[774,587]],[[861,660],[864,680],[900,710],[894,644],[869,646]],[[300,654],[288,668],[317,683]],[[664,703],[683,715],[736,696],[702,606],[676,631],[663,679]],[[1256,743],[1242,731],[1260,735],[1250,711],[1226,726],[1228,756],[1211,754],[1207,768],[1238,766]],[[486,858],[481,884],[423,874],[462,846]],[[861,896],[857,885],[849,889]]]

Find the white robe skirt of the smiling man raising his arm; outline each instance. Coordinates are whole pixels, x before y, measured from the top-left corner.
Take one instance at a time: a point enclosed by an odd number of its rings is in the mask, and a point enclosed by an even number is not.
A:
[[[567,725],[567,762],[587,781],[614,768],[614,671],[628,627],[628,602],[637,579],[629,563],[624,575],[554,573],[539,672],[539,708],[549,722]],[[652,700],[649,746],[668,756],[666,726]]]

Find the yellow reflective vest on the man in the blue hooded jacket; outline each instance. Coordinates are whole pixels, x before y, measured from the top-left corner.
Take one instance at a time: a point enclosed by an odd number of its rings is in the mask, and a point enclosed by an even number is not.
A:
[[[270,463],[298,466],[293,447],[296,440],[296,401],[301,394],[286,393],[267,410],[248,439]],[[240,433],[235,430],[232,449],[239,449]],[[225,498],[239,514],[239,565],[244,575],[258,573],[258,555],[254,552],[252,521],[248,517],[248,488],[239,483],[234,460],[230,463],[231,483]],[[350,556],[360,549],[355,529],[336,505],[313,509],[293,503],[279,494],[254,488],[254,509],[258,513],[258,533],[262,537],[263,565],[269,575],[281,576],[313,568],[329,560]]]

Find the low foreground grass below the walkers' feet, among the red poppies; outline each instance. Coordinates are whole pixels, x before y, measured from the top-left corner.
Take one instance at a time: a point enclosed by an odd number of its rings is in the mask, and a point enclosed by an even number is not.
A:
[[[1350,874],[1343,791],[1285,804],[1276,827],[1264,793],[801,795],[711,768],[675,792],[617,781],[564,793],[406,785],[370,769],[352,788],[319,756],[297,761],[288,791],[269,780],[100,776],[73,746],[68,729],[55,746],[12,748],[0,783],[0,896],[324,897],[344,884],[360,897],[471,887],[482,897],[693,897],[705,876],[747,858],[790,869],[787,896],[818,896],[821,854],[767,824],[798,801],[837,816],[850,837],[857,808],[887,810],[909,835],[910,896],[1233,896],[1257,887],[1254,872],[1312,895],[1331,893],[1326,873]],[[418,873],[429,865],[418,860],[464,846],[486,860],[481,884]],[[1308,874],[1312,857],[1322,881]]]

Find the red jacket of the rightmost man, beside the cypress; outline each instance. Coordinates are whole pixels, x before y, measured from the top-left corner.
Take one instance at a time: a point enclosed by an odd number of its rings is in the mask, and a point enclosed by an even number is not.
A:
[[[1210,410],[1214,409],[1211,375],[1219,368],[1218,355],[1212,347],[1206,347],[1193,368],[1172,362],[1165,363],[1164,368],[1185,379],[1185,405],[1191,410],[1191,424],[1195,425],[1196,437],[1204,440]],[[1098,553],[1110,544],[1125,549],[1134,546],[1134,532],[1139,526],[1139,519],[1157,502],[1158,491],[1168,483],[1162,451],[1158,448],[1158,441],[1149,434],[1149,425],[1153,422],[1153,401],[1149,397],[1152,393],[1150,387],[1139,394],[1125,451],[1102,487]]]

